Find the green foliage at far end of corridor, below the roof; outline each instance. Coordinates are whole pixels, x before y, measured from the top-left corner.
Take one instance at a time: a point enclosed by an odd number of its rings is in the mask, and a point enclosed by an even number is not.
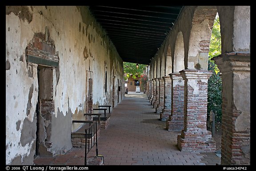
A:
[[[139,64],[139,68],[136,68],[136,63],[130,63],[130,62],[124,62],[124,79],[127,78],[134,78],[136,79],[136,76],[140,77],[140,75],[143,74],[144,70],[146,69],[147,65]]]

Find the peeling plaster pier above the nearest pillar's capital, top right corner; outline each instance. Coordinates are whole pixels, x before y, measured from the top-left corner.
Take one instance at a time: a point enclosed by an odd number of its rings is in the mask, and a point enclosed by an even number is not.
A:
[[[222,36],[221,52],[250,51],[250,6],[217,6]]]

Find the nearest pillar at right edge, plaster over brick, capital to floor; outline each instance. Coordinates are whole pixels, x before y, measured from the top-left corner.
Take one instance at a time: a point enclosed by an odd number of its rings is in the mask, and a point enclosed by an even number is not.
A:
[[[214,58],[222,73],[221,165],[250,165],[250,53]]]

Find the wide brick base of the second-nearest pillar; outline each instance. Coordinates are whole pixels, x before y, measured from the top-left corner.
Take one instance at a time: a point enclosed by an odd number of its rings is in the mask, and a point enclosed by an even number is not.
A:
[[[178,148],[181,152],[215,152],[216,143],[212,138],[207,138],[211,136],[211,132],[203,131],[201,134],[194,134],[194,132],[189,132],[189,135],[184,134],[188,132],[183,132],[181,135],[177,136]]]

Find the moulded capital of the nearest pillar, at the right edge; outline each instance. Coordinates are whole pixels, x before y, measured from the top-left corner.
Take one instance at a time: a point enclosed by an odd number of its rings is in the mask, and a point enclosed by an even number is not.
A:
[[[250,71],[250,53],[230,52],[212,58],[222,73],[229,71]]]

